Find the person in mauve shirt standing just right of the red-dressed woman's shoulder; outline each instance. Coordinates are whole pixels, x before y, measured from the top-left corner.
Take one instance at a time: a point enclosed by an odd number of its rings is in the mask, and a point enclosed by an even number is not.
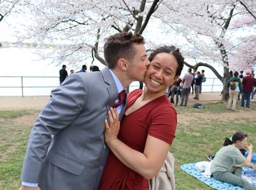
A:
[[[190,88],[192,80],[194,79],[194,76],[191,74],[191,71],[191,68],[187,69],[187,74],[182,79],[183,88],[181,90],[181,104],[179,106],[187,106],[187,102],[189,101]]]

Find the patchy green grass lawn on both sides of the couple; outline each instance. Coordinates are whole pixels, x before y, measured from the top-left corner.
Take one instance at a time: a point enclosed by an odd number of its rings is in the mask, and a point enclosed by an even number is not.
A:
[[[253,102],[254,103],[254,102]],[[227,111],[222,102],[206,104],[205,109],[177,107],[179,118],[189,117],[189,122],[178,122],[176,139],[170,151],[176,158],[175,177],[176,189],[212,189],[180,169],[181,164],[207,160],[208,154],[215,154],[224,142],[225,137],[231,137],[236,131],[249,135],[249,143],[254,145],[256,152],[256,119],[234,117],[232,111]],[[251,105],[251,111],[256,113],[256,104]],[[0,189],[18,189],[20,187],[20,172],[26,144],[32,128],[31,119],[39,110],[0,111]],[[230,113],[230,114],[229,114]],[[238,114],[249,111],[238,110]],[[199,115],[198,117],[195,114]],[[207,117],[210,115],[210,117]],[[229,117],[228,115],[233,115]],[[226,121],[220,119],[227,117]],[[22,119],[23,118],[23,119]],[[21,120],[22,122],[21,122]],[[33,120],[34,121],[34,120]]]

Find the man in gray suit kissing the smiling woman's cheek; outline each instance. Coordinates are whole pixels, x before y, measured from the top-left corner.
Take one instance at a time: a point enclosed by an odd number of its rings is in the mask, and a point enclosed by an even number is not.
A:
[[[104,45],[108,67],[75,73],[51,92],[30,134],[20,189],[98,189],[108,157],[104,119],[117,94],[144,80],[148,59],[139,34],[121,32]],[[126,102],[117,107],[123,115]]]

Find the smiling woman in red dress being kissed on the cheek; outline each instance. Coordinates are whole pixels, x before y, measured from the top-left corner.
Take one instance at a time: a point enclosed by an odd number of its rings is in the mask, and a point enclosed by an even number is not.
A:
[[[163,46],[148,60],[145,88],[128,94],[121,127],[112,108],[110,123],[105,121],[111,151],[100,189],[148,189],[148,179],[158,174],[175,137],[177,113],[165,90],[181,74],[183,57],[175,46]]]

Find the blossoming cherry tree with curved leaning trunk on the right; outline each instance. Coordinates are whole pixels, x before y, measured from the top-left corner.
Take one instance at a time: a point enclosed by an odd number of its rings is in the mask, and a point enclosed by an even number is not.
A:
[[[230,68],[252,69],[255,66],[255,13],[253,1],[214,0],[214,1],[164,1],[164,9],[158,14],[164,23],[171,23],[177,33],[185,36],[187,42],[200,56],[209,57],[223,65],[223,76],[214,69],[214,65],[199,62],[195,65],[185,63],[197,69],[208,67],[224,85],[222,100],[228,98],[227,80]],[[251,32],[247,32],[251,30]],[[242,32],[246,35],[241,36]],[[251,33],[251,34],[250,34]],[[253,41],[254,40],[254,41]],[[195,57],[189,55],[189,57]]]

